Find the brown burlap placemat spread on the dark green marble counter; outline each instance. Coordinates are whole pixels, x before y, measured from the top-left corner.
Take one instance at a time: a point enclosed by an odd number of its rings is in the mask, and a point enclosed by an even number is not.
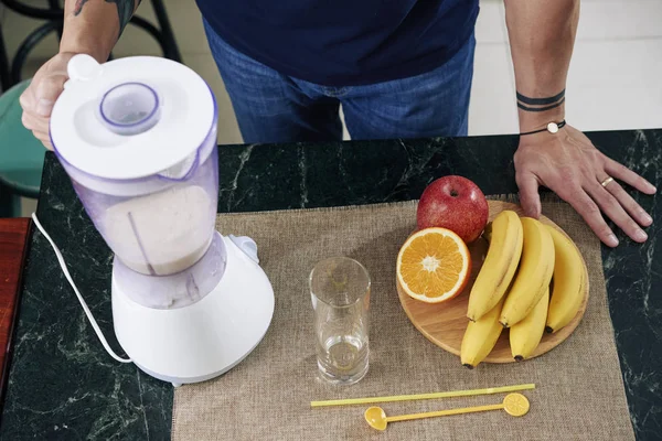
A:
[[[577,331],[552,352],[520,364],[481,364],[427,341],[405,315],[395,257],[415,226],[416,203],[218,216],[225,234],[248,235],[276,292],[265,340],[226,375],[174,394],[174,440],[630,440],[633,431],[609,319],[599,241],[565,203],[543,213],[584,254],[590,301]],[[307,277],[322,258],[344,255],[371,273],[370,372],[354,386],[317,377]],[[311,400],[430,392],[535,383],[531,411],[502,411],[367,427],[366,406],[311,409]],[[387,415],[499,402],[503,395],[383,405]]]

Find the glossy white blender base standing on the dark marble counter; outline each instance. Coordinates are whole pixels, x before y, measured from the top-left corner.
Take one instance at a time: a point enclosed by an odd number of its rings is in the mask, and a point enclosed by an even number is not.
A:
[[[147,308],[131,300],[113,276],[119,344],[141,370],[174,386],[205,381],[235,367],[263,340],[274,315],[274,290],[250,250],[221,237],[225,272],[212,292],[188,306]]]

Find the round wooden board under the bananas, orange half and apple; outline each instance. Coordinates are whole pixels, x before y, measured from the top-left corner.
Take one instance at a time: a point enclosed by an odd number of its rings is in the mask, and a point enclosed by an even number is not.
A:
[[[520,216],[524,215],[522,208],[519,205],[501,201],[488,201],[488,203],[490,205],[490,220],[494,219],[494,217],[504,209],[512,209]],[[558,225],[554,224],[547,217],[541,216],[540,220],[543,224],[551,225],[565,234],[565,232],[563,232],[563,229],[560,229]],[[473,281],[476,280],[476,277],[478,276],[478,272],[482,267],[482,262],[488,251],[488,243],[485,239],[479,238],[478,240],[469,245],[469,250],[471,252],[472,263],[471,278],[467,283],[465,290],[455,299],[438,304],[425,303],[416,299],[412,299],[409,295],[407,295],[407,293],[405,293],[401,289],[399,283],[396,282],[396,284],[398,286],[397,293],[401,303],[414,326],[416,326],[416,329],[420,331],[420,333],[425,335],[429,341],[458,356],[460,355],[462,336],[465,335],[467,324],[469,323],[469,319],[467,319],[469,292],[471,292]],[[570,323],[568,323],[565,327],[558,330],[556,333],[545,333],[540,345],[530,358],[537,357],[538,355],[542,355],[558,346],[563,341],[570,336],[570,334],[575,331],[575,329],[581,321],[581,318],[586,312],[586,305],[588,303],[588,270],[586,268],[586,262],[584,262],[584,259],[583,265],[584,271],[586,273],[587,283],[586,292],[584,294],[584,301],[579,306],[577,315],[575,315],[575,319],[573,319]],[[501,333],[496,345],[483,362],[515,362],[510,349],[508,330],[504,330]]]

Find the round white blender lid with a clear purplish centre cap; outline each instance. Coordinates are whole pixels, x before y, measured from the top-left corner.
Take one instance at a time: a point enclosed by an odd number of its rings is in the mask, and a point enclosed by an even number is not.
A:
[[[193,162],[216,125],[207,84],[183,64],[135,56],[99,64],[74,56],[51,115],[51,141],[72,166],[130,180]]]

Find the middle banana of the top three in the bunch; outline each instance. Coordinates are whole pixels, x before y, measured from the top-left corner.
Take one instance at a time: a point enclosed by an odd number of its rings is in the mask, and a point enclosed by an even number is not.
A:
[[[505,297],[499,321],[510,327],[535,308],[554,272],[554,240],[549,230],[532,217],[522,217],[524,247],[513,286]]]

